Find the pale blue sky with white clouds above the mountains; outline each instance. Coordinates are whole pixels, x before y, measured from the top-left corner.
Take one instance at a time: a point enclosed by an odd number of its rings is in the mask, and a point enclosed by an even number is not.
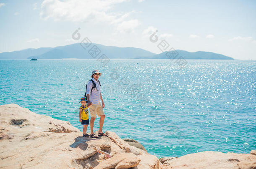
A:
[[[0,0],[0,52],[93,43],[256,60],[256,1]],[[73,40],[78,29],[81,39]],[[158,30],[159,40],[149,36]],[[167,48],[168,50],[169,48]]]

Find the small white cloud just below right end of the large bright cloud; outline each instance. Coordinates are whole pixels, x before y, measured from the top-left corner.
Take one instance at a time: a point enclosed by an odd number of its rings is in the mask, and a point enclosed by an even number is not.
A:
[[[138,20],[123,21],[117,26],[116,29],[121,33],[133,33],[134,28],[137,28],[138,25]]]

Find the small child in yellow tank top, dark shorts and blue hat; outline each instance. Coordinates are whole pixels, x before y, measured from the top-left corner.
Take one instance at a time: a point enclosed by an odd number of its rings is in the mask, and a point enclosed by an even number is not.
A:
[[[89,134],[86,133],[87,127],[89,124],[89,114],[88,114],[89,111],[86,105],[87,103],[86,98],[82,97],[80,103],[81,103],[81,106],[79,108],[79,121],[84,126],[83,137],[89,137]]]

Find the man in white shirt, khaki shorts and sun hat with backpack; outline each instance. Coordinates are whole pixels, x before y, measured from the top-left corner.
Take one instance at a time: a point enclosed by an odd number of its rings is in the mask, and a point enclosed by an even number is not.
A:
[[[91,121],[90,121],[90,128],[91,128],[91,138],[97,138],[99,136],[107,136],[107,134],[104,134],[102,131],[103,124],[104,124],[104,119],[105,119],[105,114],[103,111],[104,108],[104,101],[102,99],[101,95],[101,85],[99,82],[99,76],[101,76],[102,73],[99,73],[98,70],[92,71],[91,74],[91,80],[87,84],[86,88],[86,97],[88,100],[88,107],[89,111],[91,114]],[[100,103],[101,100],[101,103]],[[100,116],[99,119],[99,134],[96,136],[93,132],[93,126],[94,126],[94,121],[96,119],[96,114]]]

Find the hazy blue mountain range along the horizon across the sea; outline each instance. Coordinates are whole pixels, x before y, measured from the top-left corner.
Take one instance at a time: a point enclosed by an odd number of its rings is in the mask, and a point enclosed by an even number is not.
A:
[[[176,50],[178,57],[182,56],[184,59],[233,59],[231,57],[212,53],[212,52],[188,52],[185,50]],[[120,48],[116,46],[104,46],[96,43],[91,43],[89,47],[82,47],[80,43],[71,45],[58,46],[55,48],[28,48],[13,52],[0,53],[0,59],[64,59],[64,58],[78,58],[78,59],[93,59],[99,58],[102,54],[110,59],[168,59],[168,53],[163,52],[155,54],[140,48],[125,47]],[[172,57],[173,58],[173,57]]]

